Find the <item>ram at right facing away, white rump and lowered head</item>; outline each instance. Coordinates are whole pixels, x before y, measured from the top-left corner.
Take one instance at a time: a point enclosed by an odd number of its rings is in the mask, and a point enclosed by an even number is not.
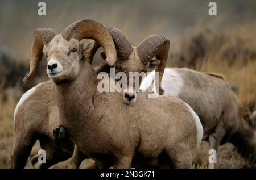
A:
[[[154,91],[154,72],[141,83],[141,89]],[[237,146],[245,158],[254,160],[256,131],[238,114],[238,104],[228,83],[218,74],[201,73],[186,68],[166,68],[162,86],[166,95],[174,95],[188,103],[199,116],[204,128],[203,140],[218,150],[226,142]],[[251,116],[255,119],[256,112]],[[214,164],[210,164],[213,168]]]

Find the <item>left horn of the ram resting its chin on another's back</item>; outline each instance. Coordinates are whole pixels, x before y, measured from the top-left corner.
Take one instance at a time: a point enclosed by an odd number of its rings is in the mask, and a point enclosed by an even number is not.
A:
[[[133,51],[130,41],[127,39],[126,35],[123,34],[123,32],[118,30],[117,28],[110,26],[105,27],[108,29],[110,35],[114,40],[118,57],[121,60],[126,60]]]

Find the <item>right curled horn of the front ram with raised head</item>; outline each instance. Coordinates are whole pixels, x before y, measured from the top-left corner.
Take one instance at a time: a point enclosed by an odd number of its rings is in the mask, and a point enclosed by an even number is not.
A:
[[[117,52],[115,45],[108,30],[102,24],[90,19],[81,19],[75,23],[70,24],[61,34],[65,40],[71,37],[82,40],[85,38],[96,41],[106,52],[106,61],[110,66],[113,66],[117,61]]]

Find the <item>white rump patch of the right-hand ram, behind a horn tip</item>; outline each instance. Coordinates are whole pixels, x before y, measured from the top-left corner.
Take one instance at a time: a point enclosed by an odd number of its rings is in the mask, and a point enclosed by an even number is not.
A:
[[[164,95],[174,95],[175,97],[178,97],[182,86],[183,79],[180,77],[179,72],[176,69],[166,68],[162,78]],[[148,73],[147,77],[143,79],[140,89],[156,92],[155,70]]]

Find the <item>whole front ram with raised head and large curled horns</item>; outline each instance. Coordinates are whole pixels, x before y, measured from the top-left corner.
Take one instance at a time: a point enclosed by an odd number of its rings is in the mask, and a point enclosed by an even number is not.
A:
[[[43,51],[48,56],[47,73],[55,85],[62,125],[86,156],[114,168],[130,168],[132,160],[139,159],[191,168],[203,136],[195,112],[176,97],[147,99],[142,93],[133,107],[125,106],[120,93],[99,93],[96,72],[82,61],[79,41],[88,37],[104,48],[106,61],[113,66],[115,47],[108,30],[92,20],[80,20],[60,35],[49,29],[36,31],[30,73],[24,82],[35,77]]]

